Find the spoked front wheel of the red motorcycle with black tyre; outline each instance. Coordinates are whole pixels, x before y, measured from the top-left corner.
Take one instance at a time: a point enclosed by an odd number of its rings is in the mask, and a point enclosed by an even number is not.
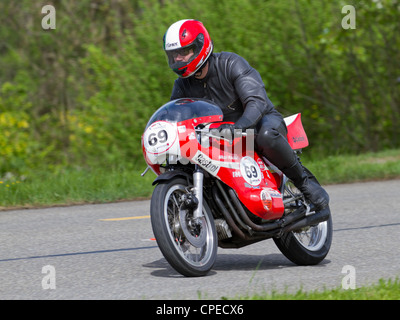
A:
[[[203,201],[203,218],[183,209],[189,186],[176,177],[159,183],[151,198],[150,216],[157,244],[169,264],[188,277],[206,275],[217,256],[217,233],[211,210]]]

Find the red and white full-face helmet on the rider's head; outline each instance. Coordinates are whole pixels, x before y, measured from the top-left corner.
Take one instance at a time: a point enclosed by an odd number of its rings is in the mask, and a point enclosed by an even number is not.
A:
[[[188,61],[177,60],[178,55],[187,55]],[[196,73],[210,57],[213,43],[207,29],[197,20],[186,19],[173,23],[164,34],[164,51],[169,67],[181,78]]]

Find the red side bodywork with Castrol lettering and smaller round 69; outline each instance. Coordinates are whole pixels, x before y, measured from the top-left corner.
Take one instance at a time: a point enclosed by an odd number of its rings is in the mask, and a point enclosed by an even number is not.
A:
[[[218,127],[212,124],[209,128]],[[237,137],[232,143],[212,138],[209,147],[200,145],[191,158],[233,190],[253,214],[265,220],[280,218],[284,213],[279,192],[281,177],[270,171],[254,151],[254,138]]]

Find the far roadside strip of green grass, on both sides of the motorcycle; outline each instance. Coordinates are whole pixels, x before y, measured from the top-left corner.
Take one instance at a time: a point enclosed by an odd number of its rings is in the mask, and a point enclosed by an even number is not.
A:
[[[318,160],[304,158],[303,164],[322,184],[400,178],[400,150]],[[0,209],[148,198],[155,175],[149,171],[141,177],[143,170],[92,168],[64,169],[58,173],[43,170],[24,177],[8,173],[0,177]]]

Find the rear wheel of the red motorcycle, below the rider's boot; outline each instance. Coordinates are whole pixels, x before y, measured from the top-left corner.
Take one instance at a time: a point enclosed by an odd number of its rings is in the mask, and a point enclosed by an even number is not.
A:
[[[325,259],[332,243],[332,216],[315,226],[274,238],[279,250],[298,265],[315,265]]]

